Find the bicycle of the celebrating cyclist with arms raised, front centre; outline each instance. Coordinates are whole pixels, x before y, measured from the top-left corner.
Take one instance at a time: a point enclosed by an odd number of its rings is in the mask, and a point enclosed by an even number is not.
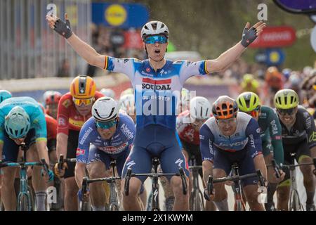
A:
[[[154,173],[150,174],[132,174],[132,169],[127,169],[126,175],[125,175],[125,185],[124,185],[124,192],[125,195],[129,195],[129,181],[132,176],[150,176],[152,177],[152,211],[160,211],[159,208],[159,184],[158,179],[160,176],[180,176],[182,181],[182,191],[183,195],[187,194],[187,181],[185,181],[185,173],[183,168],[179,168],[179,173],[176,174],[164,174],[164,173],[158,173],[158,166],[159,166],[159,158],[152,158],[152,165],[154,167]]]

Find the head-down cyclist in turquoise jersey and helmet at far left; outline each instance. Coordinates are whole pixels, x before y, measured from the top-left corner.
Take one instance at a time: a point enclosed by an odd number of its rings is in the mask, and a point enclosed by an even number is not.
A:
[[[49,164],[46,148],[46,121],[37,101],[29,97],[8,98],[0,104],[0,160],[17,162],[20,145],[25,143],[27,161],[39,162],[44,158]],[[1,200],[6,210],[16,210],[14,180],[16,167],[4,167]],[[37,210],[45,210],[46,182],[41,167],[32,169],[32,184],[37,197]],[[47,181],[48,176],[46,174]],[[49,170],[49,180],[53,172]]]

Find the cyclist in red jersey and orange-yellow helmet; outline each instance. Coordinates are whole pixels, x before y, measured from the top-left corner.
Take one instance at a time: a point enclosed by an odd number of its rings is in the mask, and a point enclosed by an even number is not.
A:
[[[74,77],[70,84],[70,92],[64,94],[58,103],[57,115],[57,146],[56,152],[66,158],[76,158],[79,131],[91,117],[91,108],[103,94],[96,91],[96,83],[91,77],[79,75]],[[65,163],[59,171],[58,163],[55,164],[55,174],[65,179],[65,211],[78,210],[79,188],[74,179],[74,163]],[[66,169],[67,168],[67,169]]]

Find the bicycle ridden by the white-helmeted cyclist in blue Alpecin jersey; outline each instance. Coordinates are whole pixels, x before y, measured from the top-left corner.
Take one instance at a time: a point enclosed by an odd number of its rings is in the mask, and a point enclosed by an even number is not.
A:
[[[88,177],[85,176],[82,181],[81,193],[83,196],[86,195],[88,191],[88,184],[107,181],[107,184],[109,184],[110,186],[110,200],[108,207],[109,211],[119,211],[121,210],[121,201],[119,200],[119,192],[117,191],[117,180],[120,180],[121,176],[116,176],[115,174],[116,160],[112,159],[110,162],[110,166],[112,167],[112,176],[110,177],[88,179]],[[91,207],[89,207],[88,200],[86,200],[86,198],[83,198],[81,211],[88,211],[90,208]]]

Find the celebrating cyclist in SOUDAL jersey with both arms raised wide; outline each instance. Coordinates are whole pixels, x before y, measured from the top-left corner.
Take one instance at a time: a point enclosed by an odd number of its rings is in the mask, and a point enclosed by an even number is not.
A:
[[[159,157],[164,172],[176,173],[179,167],[183,167],[188,176],[187,163],[176,141],[176,105],[185,80],[193,75],[224,70],[265,27],[263,22],[256,23],[253,27],[247,23],[242,40],[214,60],[172,62],[164,59],[169,29],[160,21],[150,21],[143,26],[141,38],[148,59],[138,60],[100,55],[73,34],[67,14],[66,22],[55,15],[46,15],[46,20],[89,64],[112,72],[122,72],[131,79],[136,96],[137,127],[134,148],[124,166],[123,176],[127,168],[131,168],[134,173],[150,172],[152,157]],[[145,179],[145,176],[131,178],[129,195],[123,193],[124,210],[140,210],[136,199]],[[173,176],[168,179],[175,194],[173,210],[188,210],[189,198],[187,194],[183,195],[180,177]]]

